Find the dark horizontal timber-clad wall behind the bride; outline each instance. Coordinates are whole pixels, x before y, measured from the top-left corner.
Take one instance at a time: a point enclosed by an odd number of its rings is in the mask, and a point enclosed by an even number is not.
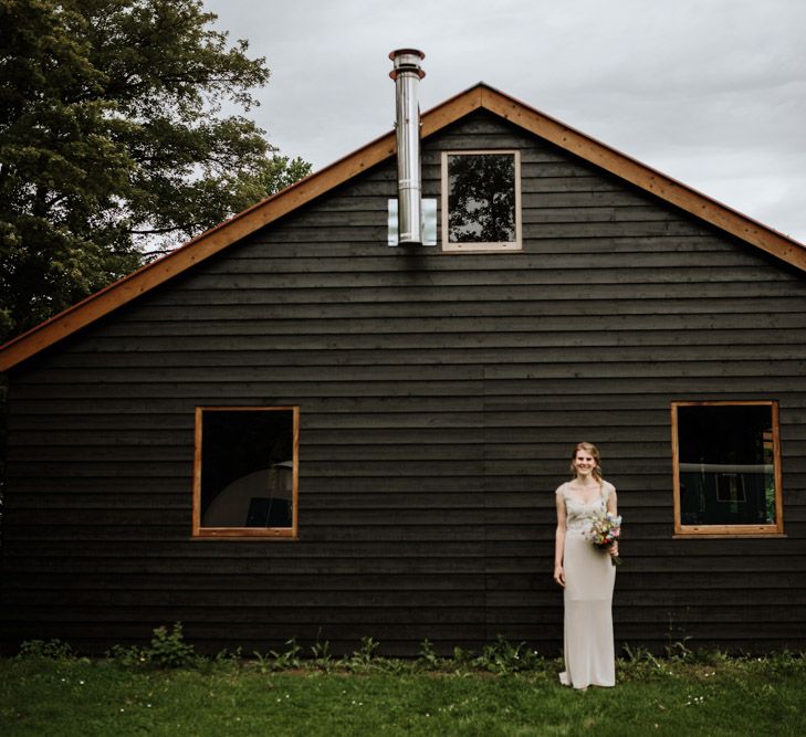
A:
[[[386,245],[394,161],[11,376],[3,636],[174,621],[208,650],[556,653],[553,489],[605,454],[617,642],[806,646],[806,277],[477,114],[523,151],[521,254]],[[784,539],[672,539],[672,400],[778,399]],[[191,540],[193,408],[301,407],[300,540]]]

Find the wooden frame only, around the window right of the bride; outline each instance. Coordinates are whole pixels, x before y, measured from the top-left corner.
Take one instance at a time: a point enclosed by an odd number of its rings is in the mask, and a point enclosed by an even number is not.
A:
[[[770,407],[773,424],[773,477],[775,481],[775,523],[770,525],[683,525],[680,522],[680,439],[679,407]],[[674,486],[674,537],[767,537],[784,535],[783,474],[777,400],[676,401],[671,403],[672,474]]]

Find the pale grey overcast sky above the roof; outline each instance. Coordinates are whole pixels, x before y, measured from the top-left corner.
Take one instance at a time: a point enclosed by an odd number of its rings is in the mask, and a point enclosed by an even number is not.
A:
[[[806,243],[805,0],[205,0],[272,72],[250,115],[314,169],[478,82]]]

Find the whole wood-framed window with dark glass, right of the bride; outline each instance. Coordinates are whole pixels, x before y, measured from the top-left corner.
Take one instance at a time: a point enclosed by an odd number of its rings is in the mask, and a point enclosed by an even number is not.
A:
[[[783,534],[777,402],[671,410],[676,534]]]

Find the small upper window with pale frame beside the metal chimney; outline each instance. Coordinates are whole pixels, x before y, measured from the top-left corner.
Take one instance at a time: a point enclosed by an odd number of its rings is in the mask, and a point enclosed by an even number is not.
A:
[[[520,151],[443,151],[442,250],[521,249]]]

